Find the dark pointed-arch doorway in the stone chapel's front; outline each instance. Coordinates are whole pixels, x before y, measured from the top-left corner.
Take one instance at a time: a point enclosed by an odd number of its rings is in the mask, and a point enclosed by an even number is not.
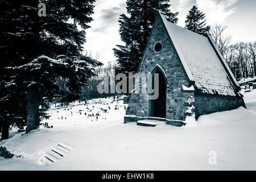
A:
[[[159,74],[159,96],[156,100],[149,100],[149,116],[166,118],[166,88],[167,78],[163,69],[156,65],[152,71],[152,87],[154,88],[154,74]]]

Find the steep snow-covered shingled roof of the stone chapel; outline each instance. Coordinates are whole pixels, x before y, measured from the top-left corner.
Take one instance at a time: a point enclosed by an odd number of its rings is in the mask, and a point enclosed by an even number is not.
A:
[[[189,80],[195,81],[195,88],[206,94],[236,96],[237,81],[212,40],[170,23],[159,14]]]

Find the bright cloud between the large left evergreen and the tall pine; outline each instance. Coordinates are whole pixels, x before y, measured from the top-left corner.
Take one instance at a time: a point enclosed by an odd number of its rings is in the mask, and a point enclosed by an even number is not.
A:
[[[100,56],[99,61],[115,60],[112,49],[123,44],[119,36],[119,15],[126,13],[126,0],[97,0],[94,3],[93,22],[86,30],[84,49]],[[94,57],[93,57],[94,58]]]

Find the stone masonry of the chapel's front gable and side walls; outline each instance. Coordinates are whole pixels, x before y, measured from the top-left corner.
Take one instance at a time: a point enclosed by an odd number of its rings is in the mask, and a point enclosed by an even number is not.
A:
[[[156,43],[162,43],[160,52],[155,52]],[[193,112],[196,118],[202,114],[210,114],[216,111],[236,109],[244,106],[242,96],[238,93],[236,97],[211,95],[198,92],[195,90],[183,90],[183,85],[189,88],[191,82],[187,77],[180,58],[176,52],[172,40],[168,36],[162,19],[157,16],[154,27],[144,55],[139,65],[138,74],[152,72],[154,67],[159,65],[166,74],[167,91],[166,91],[166,123],[175,126],[183,126],[185,121],[186,110],[190,105],[187,101],[193,98]],[[141,88],[147,88],[147,83],[140,83]],[[187,112],[188,113],[188,112]],[[188,115],[188,114],[187,114]],[[138,119],[147,119],[149,117],[149,100],[148,93],[132,93],[129,106],[126,109],[125,122],[138,121]],[[176,122],[178,121],[178,122]]]

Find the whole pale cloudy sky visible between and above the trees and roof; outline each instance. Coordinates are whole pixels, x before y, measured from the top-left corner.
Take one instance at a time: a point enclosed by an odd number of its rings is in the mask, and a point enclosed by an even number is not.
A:
[[[118,18],[126,13],[126,0],[96,0],[94,5],[94,20],[86,30],[84,48],[92,51],[93,56],[97,53],[98,60],[106,64],[116,59],[112,51],[115,45],[123,44]],[[171,0],[171,5],[173,12],[179,12],[179,26],[184,27],[189,9],[197,5],[205,13],[208,24],[228,26],[233,43],[256,40],[256,0]]]

